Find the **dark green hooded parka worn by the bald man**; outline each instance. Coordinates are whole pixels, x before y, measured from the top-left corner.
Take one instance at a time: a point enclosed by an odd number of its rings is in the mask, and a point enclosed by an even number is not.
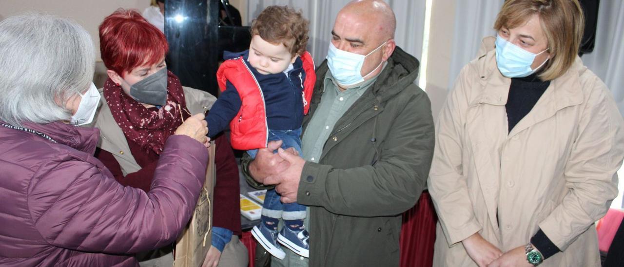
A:
[[[418,66],[396,47],[373,86],[336,122],[319,163],[303,167],[297,202],[310,206],[310,266],[399,265],[401,213],[420,197],[434,149],[431,104],[414,84]],[[327,71],[326,61],[316,70],[304,130]],[[243,158],[244,170],[249,162]]]

